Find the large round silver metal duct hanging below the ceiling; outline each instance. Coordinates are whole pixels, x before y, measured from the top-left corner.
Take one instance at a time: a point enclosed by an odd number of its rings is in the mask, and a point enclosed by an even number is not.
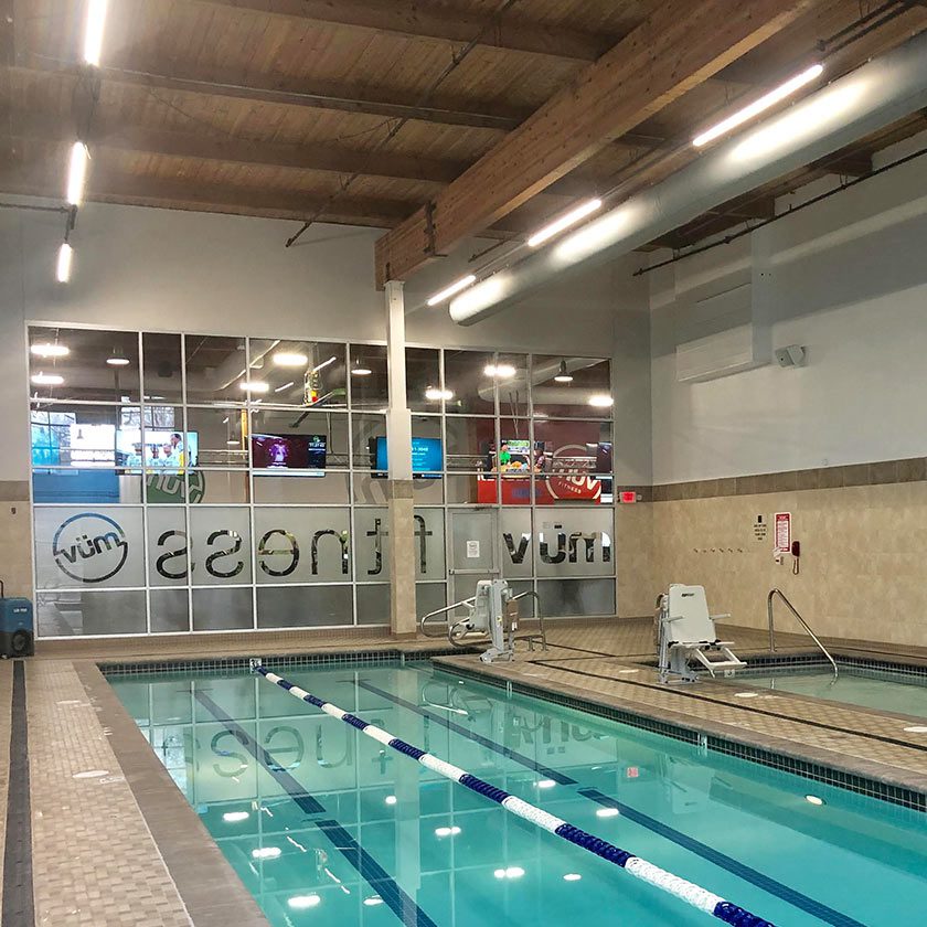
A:
[[[469,326],[555,274],[627,254],[715,206],[851,145],[927,106],[927,32],[626,200],[594,222],[450,302]]]

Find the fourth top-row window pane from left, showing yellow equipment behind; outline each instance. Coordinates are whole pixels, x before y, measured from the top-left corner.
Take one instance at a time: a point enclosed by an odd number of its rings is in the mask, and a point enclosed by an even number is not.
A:
[[[252,338],[248,351],[253,398],[275,405],[347,407],[343,344]],[[266,383],[267,390],[257,392],[257,383]]]

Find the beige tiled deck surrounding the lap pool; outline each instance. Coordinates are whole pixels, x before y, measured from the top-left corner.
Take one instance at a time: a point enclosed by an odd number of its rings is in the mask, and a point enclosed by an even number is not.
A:
[[[728,628],[727,639],[745,657],[761,656],[765,633]],[[781,654],[809,652],[807,639],[778,635]],[[475,656],[435,657],[455,672],[585,704],[605,714],[673,736],[699,737],[759,763],[780,765],[859,791],[878,786],[899,812],[924,810],[927,736],[906,733],[910,718],[788,693],[738,699],[740,686],[702,682],[663,686],[653,660],[652,622],[624,619],[548,626],[546,652],[520,653],[512,663],[486,667]],[[440,640],[394,640],[358,631],[326,635],[228,635],[191,643],[185,639],[95,641],[45,646],[24,663],[30,755],[34,923],[42,927],[266,925],[260,912],[196,813],[177,790],[148,743],[124,711],[97,662],[139,671],[146,664],[184,662],[205,669],[210,660],[275,654],[363,652],[422,656]],[[831,641],[837,653],[869,654],[927,668],[927,650],[866,641]],[[93,649],[90,649],[93,648]],[[0,663],[0,800],[7,808],[14,663]],[[11,708],[11,705],[13,707]],[[921,720],[923,723],[923,720]],[[89,777],[78,774],[94,772]],[[20,772],[14,778],[21,779]],[[925,818],[927,821],[927,818]],[[0,848],[14,839],[0,830]],[[21,829],[20,829],[21,830]],[[20,873],[21,875],[21,873]],[[0,892],[4,924],[28,885],[6,878]],[[17,897],[13,897],[13,896]],[[25,908],[23,908],[25,909]],[[29,918],[9,920],[28,927]]]

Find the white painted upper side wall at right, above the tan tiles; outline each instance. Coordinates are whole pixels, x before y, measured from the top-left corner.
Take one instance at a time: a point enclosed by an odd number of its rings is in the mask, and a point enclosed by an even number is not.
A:
[[[927,455],[927,158],[649,276],[654,482]],[[807,365],[678,383],[691,298],[748,280]]]

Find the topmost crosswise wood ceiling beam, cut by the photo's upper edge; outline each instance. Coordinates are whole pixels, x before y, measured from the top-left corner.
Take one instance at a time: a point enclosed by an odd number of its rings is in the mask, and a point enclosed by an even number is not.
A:
[[[561,58],[595,61],[617,36],[575,29],[551,29],[524,17],[477,15],[445,3],[419,0],[198,0],[226,10],[246,10],[297,21],[359,29]]]

